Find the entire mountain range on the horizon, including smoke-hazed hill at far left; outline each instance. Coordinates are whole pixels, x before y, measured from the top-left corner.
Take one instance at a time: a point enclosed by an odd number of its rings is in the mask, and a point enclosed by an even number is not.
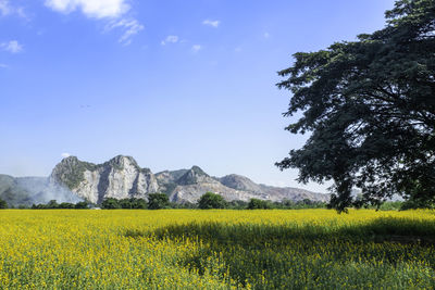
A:
[[[259,185],[236,174],[212,177],[199,166],[153,174],[149,168],[141,168],[132,156],[124,155],[102,164],[70,156],[57,164],[48,178],[0,175],[0,199],[5,197],[12,204],[28,205],[51,199],[63,202],[73,198],[101,203],[105,198],[148,199],[148,194],[153,192],[164,192],[173,202],[195,203],[207,191],[219,193],[227,201],[330,199],[328,194],[303,189]]]

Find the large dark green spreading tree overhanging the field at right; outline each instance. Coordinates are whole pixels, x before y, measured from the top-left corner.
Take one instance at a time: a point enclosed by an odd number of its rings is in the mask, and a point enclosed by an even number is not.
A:
[[[278,72],[293,97],[286,127],[311,133],[306,144],[276,163],[299,168],[298,180],[333,180],[331,206],[380,205],[435,196],[435,0],[400,0],[387,25],[358,41],[294,54]]]

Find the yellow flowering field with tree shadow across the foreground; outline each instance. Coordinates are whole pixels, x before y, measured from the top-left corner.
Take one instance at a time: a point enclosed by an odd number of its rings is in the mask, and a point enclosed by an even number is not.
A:
[[[435,212],[0,211],[0,289],[435,287]]]

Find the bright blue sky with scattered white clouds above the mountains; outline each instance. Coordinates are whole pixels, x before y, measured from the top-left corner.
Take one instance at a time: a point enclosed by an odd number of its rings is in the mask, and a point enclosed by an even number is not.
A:
[[[300,185],[275,162],[276,72],[296,52],[385,26],[393,0],[0,0],[0,174],[48,176],[64,156],[130,155],[153,173],[200,166]]]

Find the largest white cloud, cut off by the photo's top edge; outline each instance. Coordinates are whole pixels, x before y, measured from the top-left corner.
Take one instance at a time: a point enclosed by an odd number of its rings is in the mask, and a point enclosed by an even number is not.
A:
[[[94,18],[119,17],[130,8],[126,0],[46,0],[46,7],[63,13],[80,10]]]

